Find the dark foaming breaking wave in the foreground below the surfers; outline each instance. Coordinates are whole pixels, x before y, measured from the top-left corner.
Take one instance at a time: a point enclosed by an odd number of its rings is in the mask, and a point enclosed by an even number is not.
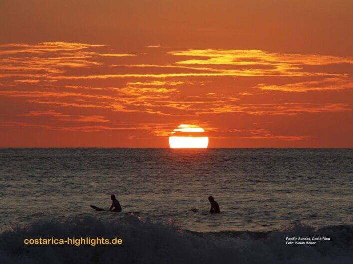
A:
[[[353,226],[294,225],[269,232],[193,232],[127,216],[39,222],[0,234],[2,264],[352,264]],[[25,245],[26,238],[118,237],[122,245]],[[286,245],[286,237],[326,237],[315,245]]]

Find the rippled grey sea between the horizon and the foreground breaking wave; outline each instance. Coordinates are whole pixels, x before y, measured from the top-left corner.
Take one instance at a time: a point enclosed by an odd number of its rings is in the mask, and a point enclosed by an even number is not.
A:
[[[352,149],[0,149],[0,222],[169,219],[194,231],[353,223]],[[209,215],[212,195],[221,214]],[[193,209],[193,210],[192,210]]]

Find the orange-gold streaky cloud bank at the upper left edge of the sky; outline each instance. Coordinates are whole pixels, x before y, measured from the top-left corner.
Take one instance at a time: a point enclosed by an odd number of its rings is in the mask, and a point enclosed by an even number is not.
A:
[[[44,42],[35,45],[2,44],[0,48],[5,49],[0,50],[0,56],[3,56],[0,58],[0,73],[5,74],[0,74],[0,77],[48,79],[50,75],[63,74],[70,68],[102,66],[103,63],[97,61],[98,57],[136,56],[126,53],[86,51],[102,47],[104,45],[66,42]]]

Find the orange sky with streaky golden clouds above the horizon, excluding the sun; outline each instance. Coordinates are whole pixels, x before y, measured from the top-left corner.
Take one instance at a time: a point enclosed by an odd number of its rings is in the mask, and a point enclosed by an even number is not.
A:
[[[353,147],[353,1],[0,1],[0,147]]]

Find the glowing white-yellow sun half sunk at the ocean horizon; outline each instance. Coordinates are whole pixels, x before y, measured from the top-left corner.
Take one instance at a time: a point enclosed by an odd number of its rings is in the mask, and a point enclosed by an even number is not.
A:
[[[205,130],[196,125],[182,124],[169,137],[170,148],[207,148]]]

